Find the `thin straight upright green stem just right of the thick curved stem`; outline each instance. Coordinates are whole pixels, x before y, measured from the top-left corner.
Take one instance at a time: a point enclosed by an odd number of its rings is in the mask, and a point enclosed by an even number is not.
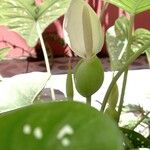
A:
[[[120,115],[124,103],[124,95],[125,95],[125,89],[126,89],[126,83],[127,83],[127,77],[128,77],[128,69],[124,72],[124,78],[123,78],[123,84],[122,84],[122,90],[121,90],[121,96],[120,96],[120,102],[118,106],[118,118],[117,118],[117,123],[120,120]]]

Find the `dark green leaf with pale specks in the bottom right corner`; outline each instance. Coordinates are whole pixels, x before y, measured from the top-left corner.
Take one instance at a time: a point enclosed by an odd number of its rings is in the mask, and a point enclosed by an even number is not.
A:
[[[121,130],[134,148],[150,148],[150,140],[141,134],[126,128],[121,128]]]

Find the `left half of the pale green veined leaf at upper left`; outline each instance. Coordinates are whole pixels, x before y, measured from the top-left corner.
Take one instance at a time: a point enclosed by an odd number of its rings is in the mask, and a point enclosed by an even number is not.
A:
[[[1,0],[0,24],[20,33],[30,46],[34,46],[37,41],[34,10],[34,0]]]

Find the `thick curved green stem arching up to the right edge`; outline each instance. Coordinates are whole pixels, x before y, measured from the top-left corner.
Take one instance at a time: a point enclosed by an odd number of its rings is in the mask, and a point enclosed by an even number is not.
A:
[[[122,73],[128,68],[128,66],[149,47],[150,47],[150,41],[148,41],[139,51],[137,51],[135,54],[133,54],[127,60],[127,62],[124,64],[124,66],[118,71],[118,73],[114,76],[114,78],[113,78],[112,82],[110,83],[110,85],[107,89],[107,92],[105,94],[105,97],[104,97],[104,100],[102,103],[102,107],[101,107],[101,111],[104,111],[105,106],[107,104],[109,94],[110,94],[111,89],[113,88],[114,84],[116,83],[116,81],[119,79],[119,77],[122,75]]]

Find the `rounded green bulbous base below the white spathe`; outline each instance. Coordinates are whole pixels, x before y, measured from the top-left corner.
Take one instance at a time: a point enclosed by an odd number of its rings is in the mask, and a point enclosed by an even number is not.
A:
[[[74,79],[76,89],[82,96],[94,94],[104,80],[104,70],[99,58],[95,56],[80,60],[75,68]]]

